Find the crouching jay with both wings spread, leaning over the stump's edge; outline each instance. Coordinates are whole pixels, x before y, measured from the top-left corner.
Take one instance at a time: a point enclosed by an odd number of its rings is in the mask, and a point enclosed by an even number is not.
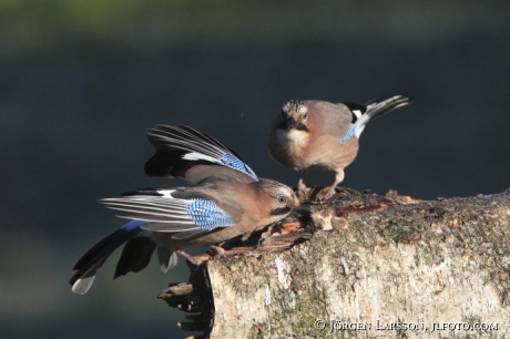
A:
[[[276,223],[292,212],[309,213],[294,192],[278,182],[257,178],[233,152],[191,127],[147,131],[160,175],[184,177],[190,187],[132,191],[100,201],[130,222],[92,247],[74,266],[72,290],[85,294],[113,250],[125,244],[114,278],[145,268],[157,248],[163,271],[177,264],[181,248],[214,245]],[[162,156],[162,151],[167,157]],[[171,161],[172,160],[172,161]],[[147,166],[146,166],[147,168]],[[152,171],[151,170],[151,171]],[[151,172],[147,171],[147,172]]]

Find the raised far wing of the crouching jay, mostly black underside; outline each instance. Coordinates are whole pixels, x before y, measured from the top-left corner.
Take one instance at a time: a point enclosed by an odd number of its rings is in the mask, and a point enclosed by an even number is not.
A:
[[[147,130],[146,138],[156,150],[156,153],[145,163],[145,173],[150,176],[181,177],[197,182],[204,177],[204,174],[195,171],[190,175],[192,167],[220,165],[246,175],[246,179],[258,181],[252,168],[232,150],[192,127],[156,125]]]

